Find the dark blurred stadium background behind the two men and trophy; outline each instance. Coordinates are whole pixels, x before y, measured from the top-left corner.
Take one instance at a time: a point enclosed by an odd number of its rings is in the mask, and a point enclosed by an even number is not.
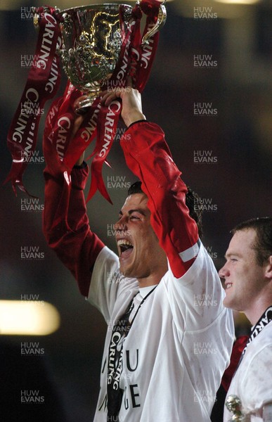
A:
[[[6,134],[27,80],[27,56],[34,55],[37,42],[26,11],[42,4],[0,4],[1,183],[11,167]],[[81,1],[56,5],[68,8]],[[164,129],[184,181],[207,205],[203,241],[219,269],[231,228],[271,213],[272,1],[174,0],[166,6],[167,23],[143,93],[143,110]],[[65,80],[63,75],[60,94]],[[203,105],[209,116],[200,115]],[[1,421],[87,422],[98,397],[105,322],[79,294],[41,232],[43,127],[44,118],[36,160],[24,176],[28,190],[39,197],[36,210],[26,211],[30,199],[20,192],[16,198],[10,185],[1,186],[0,299],[36,295],[58,309],[60,328],[40,337],[1,335]],[[125,167],[118,141],[109,161],[112,169],[105,166],[104,179],[114,205],[97,193],[88,209],[93,231],[115,249],[112,224],[126,198],[125,187],[135,178]],[[122,187],[112,188],[112,180]],[[25,246],[39,248],[40,259],[23,260]],[[38,343],[44,353],[22,355],[25,342]],[[39,390],[44,406],[20,404],[22,390]]]

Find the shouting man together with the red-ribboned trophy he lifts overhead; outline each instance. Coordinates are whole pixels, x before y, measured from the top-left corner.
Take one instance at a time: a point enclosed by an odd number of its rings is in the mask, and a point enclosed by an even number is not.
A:
[[[8,132],[8,179],[25,191],[25,157],[34,151],[40,117],[32,108],[56,94],[61,56],[69,82],[46,117],[43,228],[80,293],[108,324],[95,422],[209,422],[233,344],[224,289],[200,241],[197,195],[141,106],[164,20],[158,0],[134,8],[38,8],[37,60],[20,102],[27,106],[18,106]],[[120,145],[138,181],[119,210],[115,253],[89,226],[83,155],[96,139],[88,199],[99,190],[110,200],[102,165],[119,116],[127,127]],[[197,353],[205,342],[214,353]]]

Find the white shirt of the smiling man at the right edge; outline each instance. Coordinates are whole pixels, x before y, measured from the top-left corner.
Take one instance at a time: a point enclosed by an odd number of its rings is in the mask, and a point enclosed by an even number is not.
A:
[[[237,395],[247,422],[261,422],[263,407],[272,403],[272,321],[247,346],[226,397]],[[232,414],[224,409],[224,422]]]

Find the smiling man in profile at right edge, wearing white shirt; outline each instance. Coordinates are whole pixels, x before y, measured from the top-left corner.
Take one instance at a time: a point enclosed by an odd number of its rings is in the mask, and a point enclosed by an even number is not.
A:
[[[227,397],[236,395],[245,421],[272,421],[272,218],[235,227],[219,276],[226,284],[224,305],[243,312],[252,333],[242,352]],[[228,409],[224,421],[231,418]]]

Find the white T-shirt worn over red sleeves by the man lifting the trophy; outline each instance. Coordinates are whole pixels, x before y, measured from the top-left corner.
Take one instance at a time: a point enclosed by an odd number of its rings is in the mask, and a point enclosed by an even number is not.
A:
[[[93,269],[90,302],[108,323],[94,422],[107,421],[108,347],[138,291],[107,247]],[[233,345],[233,319],[207,251],[176,279],[171,269],[141,305],[124,340],[120,422],[207,422]]]

